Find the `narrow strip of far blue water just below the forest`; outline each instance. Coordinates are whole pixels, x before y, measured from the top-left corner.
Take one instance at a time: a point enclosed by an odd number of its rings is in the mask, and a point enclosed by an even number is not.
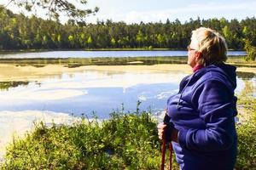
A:
[[[187,53],[187,51],[49,51],[39,53],[3,53],[0,54],[0,59],[187,56]],[[246,55],[246,52],[229,51],[228,55]]]

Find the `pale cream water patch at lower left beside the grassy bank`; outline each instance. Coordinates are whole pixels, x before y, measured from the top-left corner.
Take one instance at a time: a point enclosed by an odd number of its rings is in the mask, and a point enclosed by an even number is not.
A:
[[[12,137],[23,135],[26,131],[33,129],[33,123],[37,120],[45,124],[67,123],[75,120],[66,113],[55,113],[52,111],[0,111],[0,160],[5,153],[5,147],[12,141]]]

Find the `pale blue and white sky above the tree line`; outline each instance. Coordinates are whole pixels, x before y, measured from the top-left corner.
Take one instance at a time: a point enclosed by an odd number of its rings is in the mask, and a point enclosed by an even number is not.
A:
[[[71,0],[74,1],[75,0]],[[0,4],[7,4],[9,0],[1,0]],[[96,23],[96,20],[125,21],[131,23],[166,22],[169,20],[212,19],[224,17],[227,20],[242,20],[256,16],[255,0],[88,0],[86,8],[99,7],[96,15],[87,18],[87,22]],[[14,5],[8,8],[20,11]],[[44,18],[44,14],[39,14]],[[61,17],[65,22],[67,18]]]

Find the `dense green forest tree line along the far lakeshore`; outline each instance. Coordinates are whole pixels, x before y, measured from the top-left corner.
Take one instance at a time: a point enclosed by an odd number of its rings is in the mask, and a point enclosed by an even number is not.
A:
[[[43,20],[14,14],[0,7],[0,50],[55,48],[173,48],[187,47],[191,31],[200,26],[220,32],[229,48],[256,46],[256,18],[209,19],[126,24],[112,20],[96,24]]]

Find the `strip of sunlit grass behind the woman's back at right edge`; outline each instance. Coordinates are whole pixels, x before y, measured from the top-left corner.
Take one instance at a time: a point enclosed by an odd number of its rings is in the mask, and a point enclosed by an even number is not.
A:
[[[236,126],[238,135],[238,155],[236,169],[256,169],[256,99],[253,97],[255,87],[246,79],[245,88],[238,98],[241,120]]]

